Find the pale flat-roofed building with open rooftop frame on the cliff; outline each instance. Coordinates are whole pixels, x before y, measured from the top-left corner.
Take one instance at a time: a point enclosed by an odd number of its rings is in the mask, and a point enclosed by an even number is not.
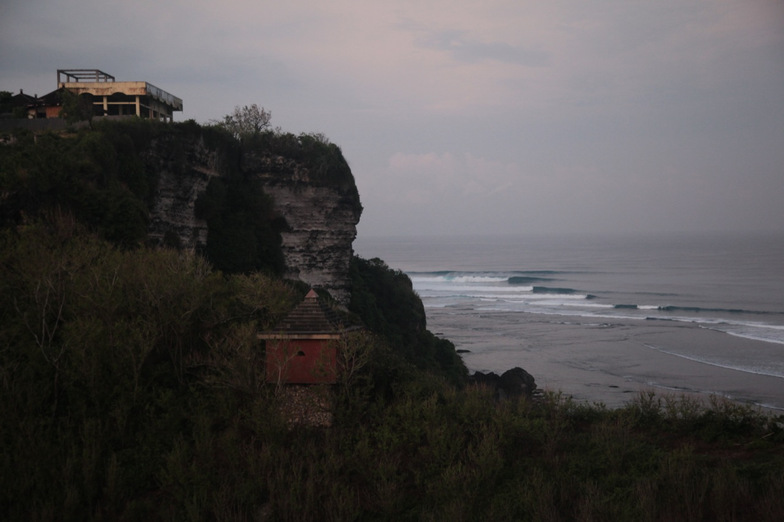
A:
[[[57,88],[93,100],[96,115],[155,118],[171,121],[182,100],[148,82],[118,82],[98,69],[58,69]]]

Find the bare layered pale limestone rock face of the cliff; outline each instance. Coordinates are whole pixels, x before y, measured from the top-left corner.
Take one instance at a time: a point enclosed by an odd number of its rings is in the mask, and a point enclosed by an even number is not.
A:
[[[276,214],[286,221],[287,229],[281,234],[284,277],[326,289],[347,304],[352,244],[362,206],[348,165],[342,156],[340,160],[348,174],[330,177],[323,165],[263,149],[241,153],[235,165],[202,140],[160,138],[145,157],[147,168],[158,175],[150,206],[150,240],[204,250],[207,223],[196,217],[196,200],[210,179],[225,175],[228,168],[238,168],[262,183],[264,192],[273,198]]]

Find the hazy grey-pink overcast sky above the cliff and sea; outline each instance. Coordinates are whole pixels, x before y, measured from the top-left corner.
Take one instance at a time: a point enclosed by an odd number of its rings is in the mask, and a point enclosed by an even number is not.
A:
[[[0,0],[70,68],[325,134],[360,236],[784,231],[784,0]]]

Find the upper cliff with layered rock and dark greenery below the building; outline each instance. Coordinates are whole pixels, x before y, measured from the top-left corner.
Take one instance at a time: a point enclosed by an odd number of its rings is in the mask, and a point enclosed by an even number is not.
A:
[[[192,249],[222,271],[262,270],[347,303],[362,205],[340,148],[319,135],[252,138],[138,119],[17,133],[0,148],[0,219],[59,208],[124,247]]]

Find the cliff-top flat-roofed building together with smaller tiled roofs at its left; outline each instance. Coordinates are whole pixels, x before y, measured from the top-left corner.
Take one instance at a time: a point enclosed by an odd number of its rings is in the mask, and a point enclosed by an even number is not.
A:
[[[58,118],[66,91],[87,100],[93,116],[172,121],[174,112],[182,111],[182,100],[173,94],[148,82],[118,82],[98,69],[58,69],[57,89],[41,97],[23,95],[20,91],[13,103],[27,119]]]

